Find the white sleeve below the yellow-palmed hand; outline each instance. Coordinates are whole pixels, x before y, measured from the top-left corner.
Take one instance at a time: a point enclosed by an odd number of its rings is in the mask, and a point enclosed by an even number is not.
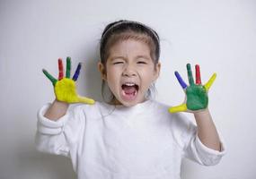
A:
[[[84,128],[83,110],[75,107],[57,121],[51,121],[44,117],[48,108],[49,104],[41,107],[38,112],[36,147],[42,152],[69,157],[70,149],[74,148],[79,133]]]

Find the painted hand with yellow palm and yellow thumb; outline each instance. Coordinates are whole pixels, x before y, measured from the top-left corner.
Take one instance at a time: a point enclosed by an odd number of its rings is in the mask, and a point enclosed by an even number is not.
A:
[[[87,103],[89,105],[94,104],[92,98],[80,97],[76,92],[75,81],[79,76],[81,69],[81,63],[77,65],[75,74],[72,79],[70,79],[71,70],[71,58],[66,57],[66,77],[63,77],[63,64],[62,60],[58,59],[58,80],[43,69],[43,73],[49,78],[54,86],[54,92],[57,100],[66,103]]]

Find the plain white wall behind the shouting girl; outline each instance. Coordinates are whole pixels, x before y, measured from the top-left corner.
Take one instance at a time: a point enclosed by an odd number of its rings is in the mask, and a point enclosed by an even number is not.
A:
[[[36,151],[37,111],[54,98],[41,72],[57,76],[57,58],[83,62],[81,95],[102,100],[99,39],[111,21],[141,21],[161,37],[157,99],[184,98],[173,72],[200,64],[202,81],[213,72],[209,108],[227,153],[217,166],[184,160],[182,179],[252,179],[256,176],[256,2],[234,1],[0,1],[0,178],[75,178],[64,157]],[[73,69],[74,70],[74,69]],[[188,115],[192,117],[192,115]]]

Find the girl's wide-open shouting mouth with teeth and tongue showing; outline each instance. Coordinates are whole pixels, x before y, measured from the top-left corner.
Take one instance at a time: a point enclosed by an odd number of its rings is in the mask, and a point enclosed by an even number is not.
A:
[[[132,100],[137,97],[138,85],[133,82],[122,84],[122,97],[126,100]]]

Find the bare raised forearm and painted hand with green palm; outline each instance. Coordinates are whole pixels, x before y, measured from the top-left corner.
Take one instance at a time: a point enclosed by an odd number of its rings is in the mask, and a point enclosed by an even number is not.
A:
[[[212,120],[208,110],[208,95],[207,92],[216,79],[216,73],[207,81],[205,85],[201,84],[199,65],[196,65],[196,83],[194,82],[190,64],[187,64],[188,78],[190,86],[187,85],[181,78],[179,72],[175,72],[175,76],[181,88],[186,94],[184,102],[177,107],[170,107],[170,113],[189,112],[195,116],[198,125],[198,135],[200,141],[210,149],[220,149],[220,140],[216,131],[216,126]]]

